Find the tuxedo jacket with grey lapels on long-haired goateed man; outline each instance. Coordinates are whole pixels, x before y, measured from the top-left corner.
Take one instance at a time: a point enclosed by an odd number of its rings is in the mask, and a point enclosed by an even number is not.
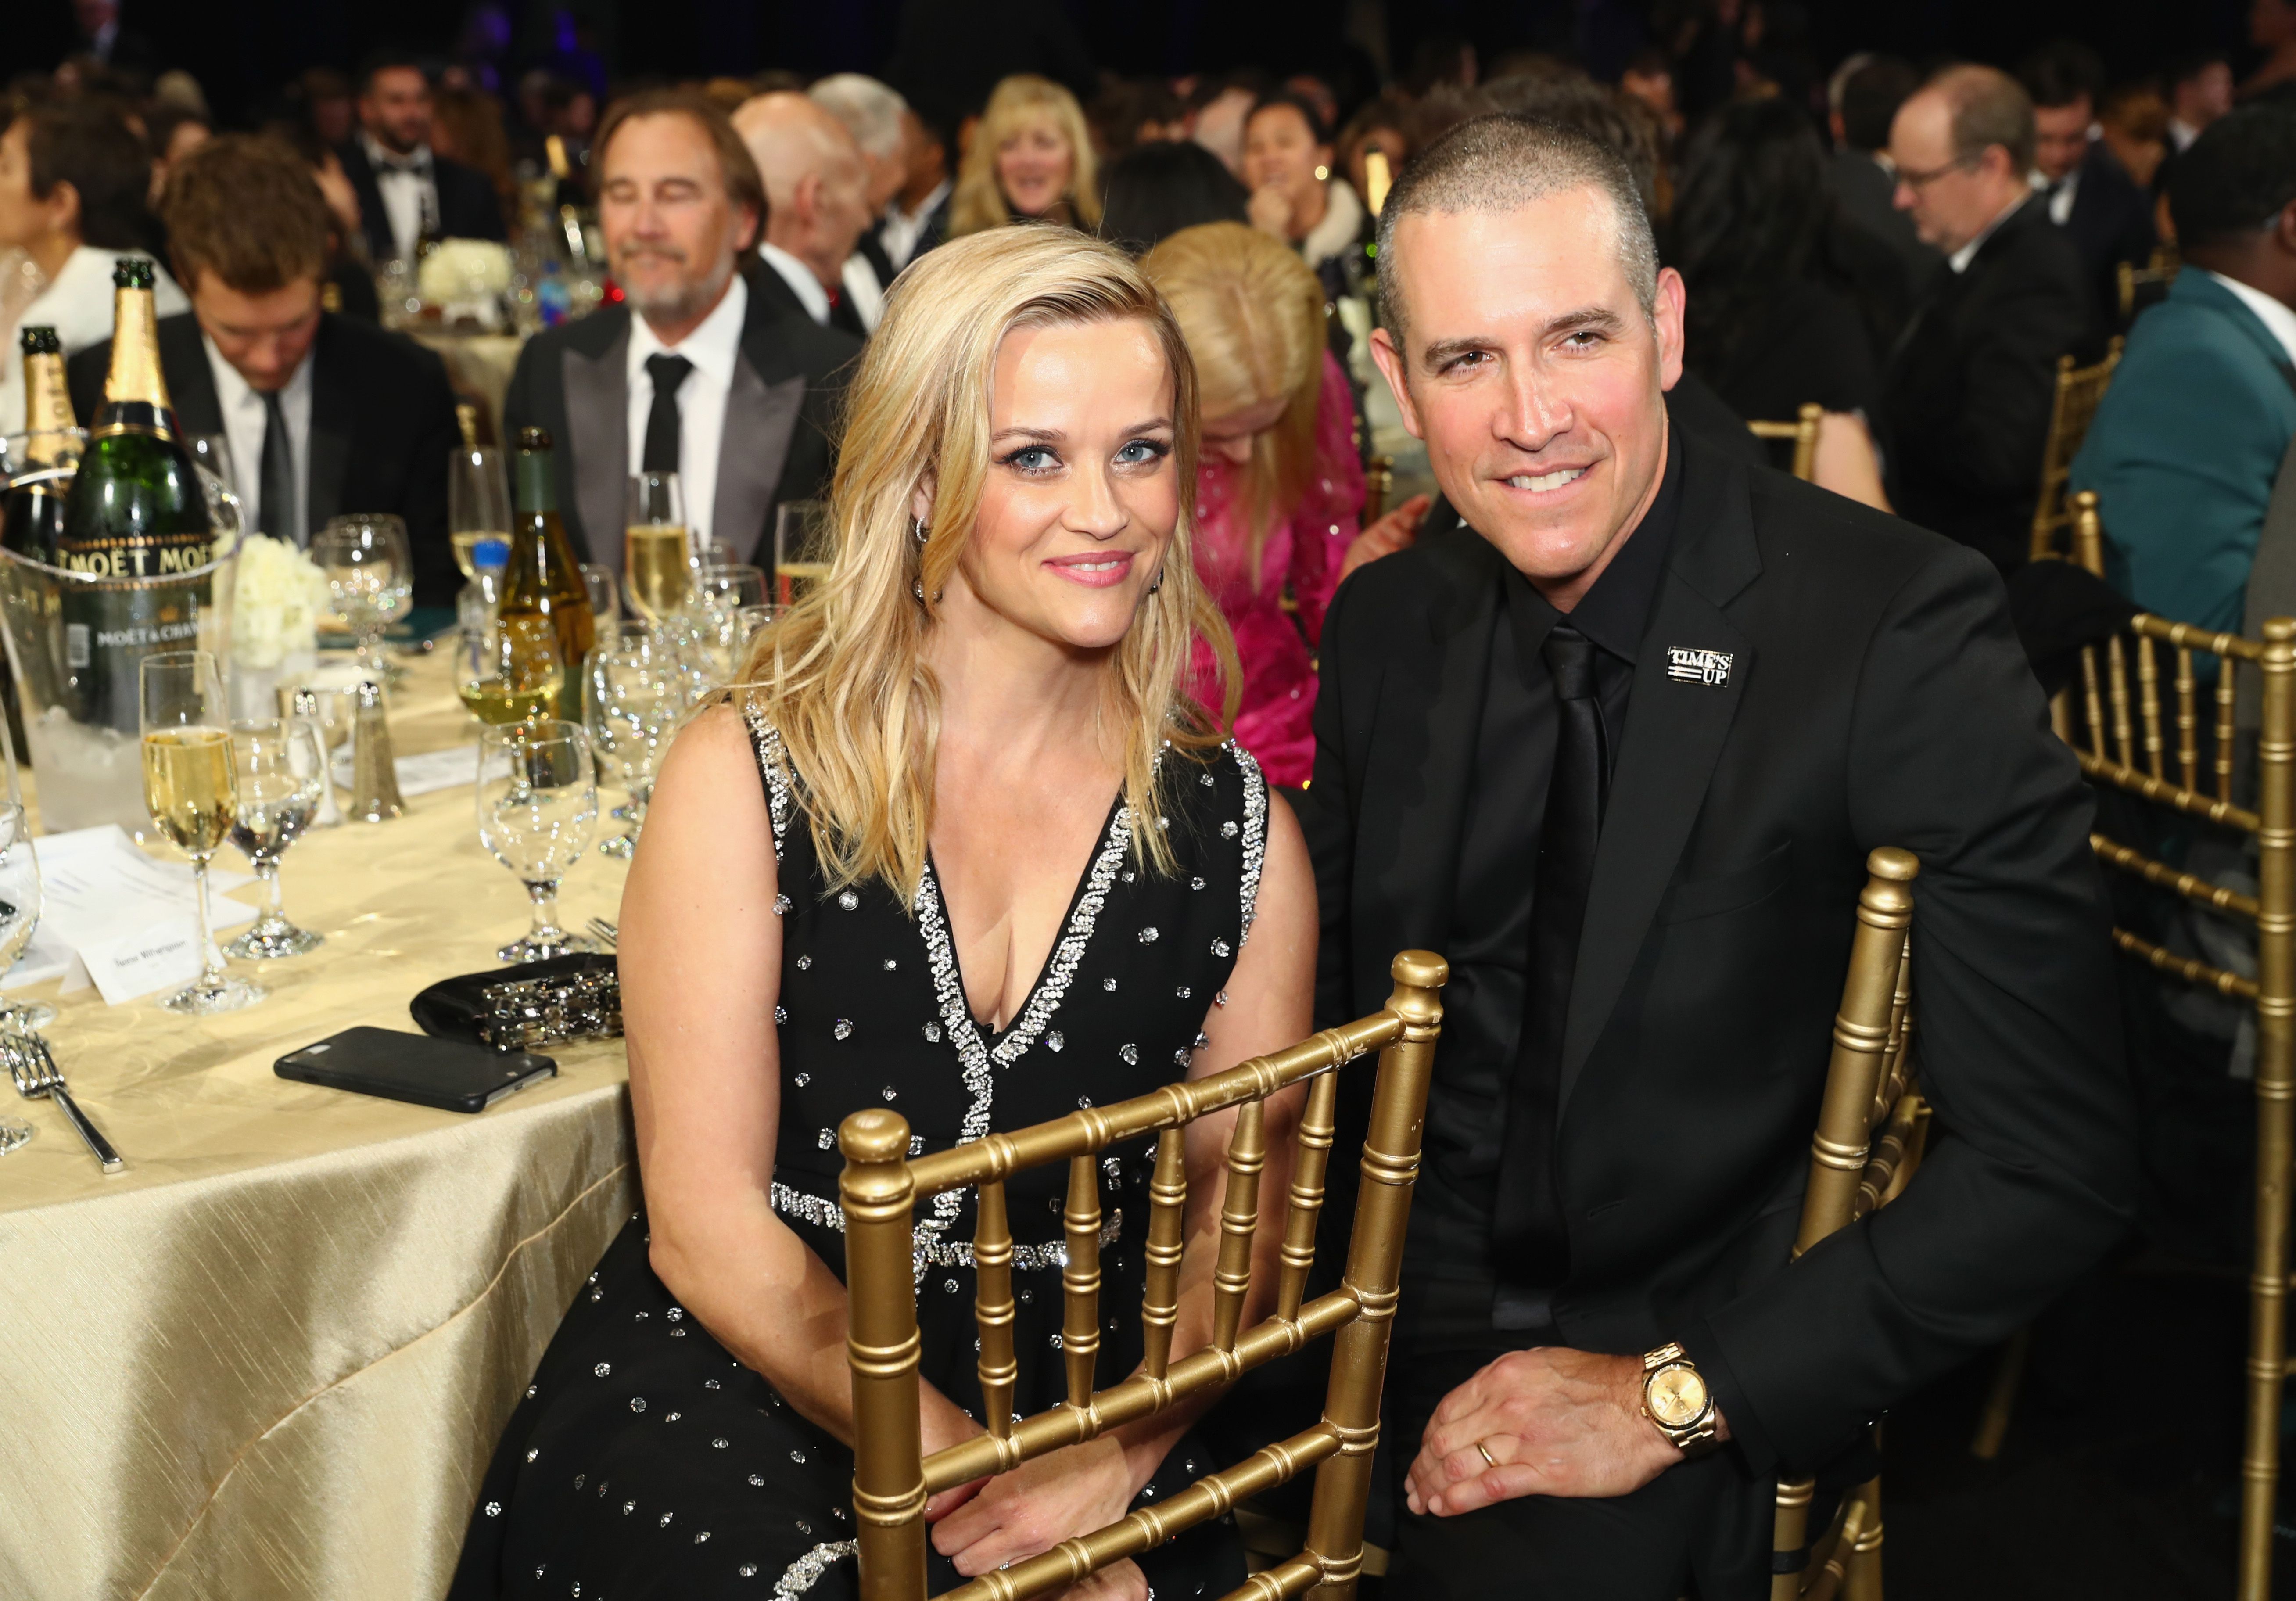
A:
[[[847,363],[861,345],[822,328],[804,310],[781,315],[760,280],[771,269],[742,273],[748,315],[742,319],[742,361],[726,397],[719,448],[714,540],[732,544],[737,560],[774,565],[774,508],[813,501],[836,466],[836,404]],[[788,294],[788,285],[781,285]],[[792,303],[797,296],[790,296]],[[510,439],[521,427],[546,427],[556,441],[558,515],[583,560],[622,567],[622,512],[629,462],[629,305],[608,305],[579,322],[546,328],[519,351],[503,397]]]

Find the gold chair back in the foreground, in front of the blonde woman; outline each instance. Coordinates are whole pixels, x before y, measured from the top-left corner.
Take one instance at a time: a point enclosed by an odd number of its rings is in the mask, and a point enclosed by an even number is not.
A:
[[[923,1601],[925,1498],[1008,1472],[1063,1445],[1091,1440],[1118,1424],[1150,1417],[1182,1397],[1233,1383],[1247,1369],[1334,1337],[1332,1383],[1322,1420],[1277,1440],[1244,1461],[1212,1472],[1171,1500],[1141,1507],[1107,1527],[1061,1541],[1052,1550],[983,1573],[941,1601],[1026,1601],[1081,1580],[1114,1562],[1162,1546],[1187,1527],[1221,1516],[1316,1468],[1306,1548],[1231,1592],[1226,1601],[1281,1601],[1318,1590],[1348,1601],[1362,1571],[1364,1505],[1371,1456],[1380,1443],[1380,1387],[1387,1378],[1387,1332],[1396,1314],[1396,1275],[1419,1174],[1419,1132],[1426,1119],[1428,1073],[1442,1024],[1437,990],[1449,979],[1440,956],[1403,951],[1394,960],[1396,990],[1387,1008],[1226,1073],[1169,1084],[1153,1096],[1114,1107],[1086,1107],[1052,1123],[1010,1135],[987,1135],[932,1155],[909,1158],[909,1123],[886,1109],[854,1112],[838,1130],[845,1171],[845,1270],[852,1307],[847,1360],[854,1383],[854,1523],[861,1557],[861,1601]],[[1339,1068],[1371,1050],[1380,1070],[1364,1139],[1364,1188],[1348,1243],[1341,1286],[1302,1305],[1316,1261],[1316,1220],[1336,1123]],[[1306,1112],[1293,1162],[1283,1217],[1277,1309],[1254,1328],[1242,1325],[1251,1289],[1251,1240],[1261,1211],[1265,1162],[1263,1103],[1288,1084],[1309,1080]],[[1178,1360],[1171,1332],[1180,1305],[1187,1167],[1182,1130],[1210,1112],[1240,1107],[1228,1139],[1228,1178],[1219,1213],[1219,1259],[1212,1270],[1212,1344]],[[1111,1390],[1093,1390],[1100,1355],[1100,1190],[1093,1158],[1109,1144],[1157,1132],[1148,1215],[1148,1291],[1141,1305],[1146,1360]],[[1061,1273],[1061,1360],[1068,1401],[1031,1417],[1013,1417],[1017,1378],[1013,1353],[1013,1231],[1006,1222],[1003,1181],[1029,1167],[1068,1162],[1068,1204],[1061,1231],[1068,1261]],[[987,1433],[923,1454],[918,1433],[918,1332],[912,1240],[916,1204],[960,1188],[978,1190],[974,1261],[980,1328],[980,1394]]]

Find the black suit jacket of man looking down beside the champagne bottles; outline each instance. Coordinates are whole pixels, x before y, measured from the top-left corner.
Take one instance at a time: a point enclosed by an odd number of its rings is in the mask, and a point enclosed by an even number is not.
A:
[[[103,404],[113,342],[71,358],[71,407],[92,418]],[[177,423],[188,434],[220,434],[223,404],[193,312],[158,319],[158,365]],[[406,521],[416,558],[416,604],[452,606],[461,590],[445,535],[445,459],[461,439],[445,363],[402,333],[319,312],[310,368],[310,462],[305,512],[317,533],[344,512],[390,512]],[[234,462],[241,473],[255,462]]]

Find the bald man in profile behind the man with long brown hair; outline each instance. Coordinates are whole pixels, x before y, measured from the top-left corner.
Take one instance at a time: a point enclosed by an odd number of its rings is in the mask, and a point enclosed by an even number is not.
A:
[[[785,317],[866,340],[884,315],[884,287],[854,250],[872,216],[854,136],[794,92],[744,101],[732,126],[765,179],[758,292]]]

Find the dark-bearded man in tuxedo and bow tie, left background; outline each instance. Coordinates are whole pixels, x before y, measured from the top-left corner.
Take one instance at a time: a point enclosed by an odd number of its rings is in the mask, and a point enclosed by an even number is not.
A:
[[[503,202],[478,168],[432,152],[429,78],[404,55],[379,55],[358,80],[358,133],[342,145],[342,172],[374,262],[411,262],[416,241],[507,239]]]

